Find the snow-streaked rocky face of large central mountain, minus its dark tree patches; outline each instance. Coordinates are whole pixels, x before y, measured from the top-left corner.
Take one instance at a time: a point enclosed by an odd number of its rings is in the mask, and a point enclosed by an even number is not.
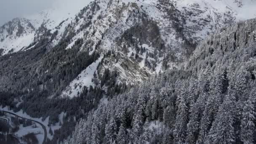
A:
[[[196,45],[204,37],[221,27],[237,21],[251,19],[256,15],[252,9],[256,7],[253,0],[96,0],[80,12],[77,22],[72,23],[73,31],[77,33],[69,42],[67,48],[72,48],[78,38],[83,38],[82,50],[99,51],[112,55],[104,57],[98,72],[103,74],[105,69],[117,72],[117,82],[138,84],[155,72],[163,71],[164,62],[169,68],[178,66],[179,61],[186,59],[185,41]],[[136,53],[135,46],[123,51],[117,40],[123,33],[141,23],[144,13],[148,19],[156,21],[160,30],[165,49],[159,51],[152,42],[138,44],[145,47],[147,53],[157,54],[154,58],[145,53],[138,53],[138,58],[131,56]],[[248,14],[246,14],[248,13]],[[80,29],[83,27],[83,29]],[[177,28],[178,27],[178,28]],[[137,40],[138,37],[133,37]],[[186,45],[185,45],[186,47]],[[173,57],[174,61],[170,58]],[[118,60],[118,61],[117,61]],[[145,64],[148,61],[151,67]],[[166,65],[166,64],[165,64]],[[128,68],[127,68],[128,67]],[[153,67],[153,68],[152,68]],[[94,70],[93,70],[94,71]],[[76,80],[72,81],[63,93],[75,96],[83,86],[94,85],[91,75],[83,71]],[[83,77],[81,79],[80,77]],[[70,91],[70,92],[68,92]]]

